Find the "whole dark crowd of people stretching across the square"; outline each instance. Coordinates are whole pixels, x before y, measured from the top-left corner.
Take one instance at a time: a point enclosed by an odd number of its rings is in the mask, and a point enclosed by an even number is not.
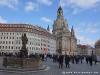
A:
[[[9,56],[9,57],[18,57],[18,54],[5,54],[4,56]],[[59,63],[59,68],[63,68],[63,63],[65,62],[65,67],[70,68],[70,63],[72,64],[78,64],[78,63],[83,63],[83,60],[85,59],[87,64],[90,64],[92,66],[93,62],[95,62],[95,65],[97,63],[97,56],[80,56],[80,55],[62,55],[62,54],[30,54],[28,56],[29,58],[39,58],[42,61],[47,61],[48,58],[53,59],[53,62],[58,62]]]

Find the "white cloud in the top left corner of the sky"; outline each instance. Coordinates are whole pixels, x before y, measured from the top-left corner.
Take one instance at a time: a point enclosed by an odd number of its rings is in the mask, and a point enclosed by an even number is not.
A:
[[[18,4],[19,0],[0,0],[0,6],[7,6],[12,9],[15,9]]]

